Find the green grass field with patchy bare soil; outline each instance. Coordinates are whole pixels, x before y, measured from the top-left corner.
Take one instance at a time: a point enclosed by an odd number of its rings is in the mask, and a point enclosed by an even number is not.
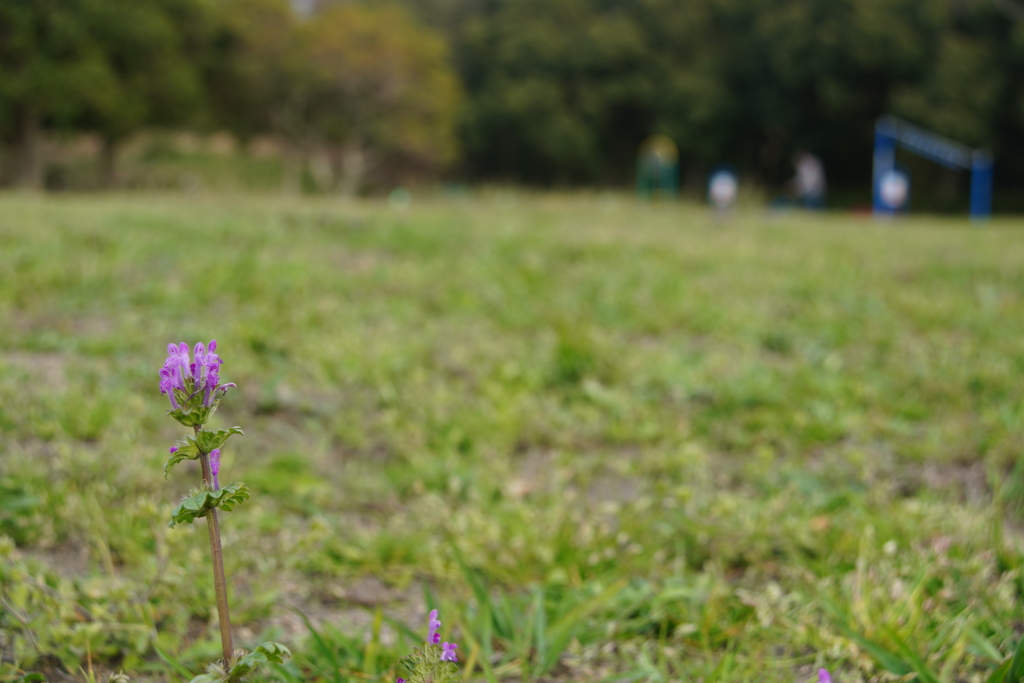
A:
[[[216,338],[268,679],[391,681],[439,606],[473,680],[980,683],[1024,634],[1022,228],[0,197],[0,680],[218,655],[157,376]]]

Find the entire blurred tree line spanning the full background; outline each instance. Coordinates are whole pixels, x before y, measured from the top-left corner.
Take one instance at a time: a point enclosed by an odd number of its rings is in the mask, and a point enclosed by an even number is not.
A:
[[[301,10],[301,11],[299,11]],[[1024,181],[1018,0],[4,0],[7,177],[40,133],[142,128],[287,144],[291,182],[358,188],[391,163],[466,179],[625,184],[660,132],[684,174],[767,183],[821,156],[864,185],[883,113],[995,153]]]

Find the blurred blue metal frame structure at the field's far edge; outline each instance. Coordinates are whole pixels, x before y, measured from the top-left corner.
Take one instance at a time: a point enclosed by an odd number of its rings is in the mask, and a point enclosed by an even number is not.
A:
[[[982,150],[936,135],[902,119],[884,116],[874,124],[874,171],[871,207],[876,216],[891,216],[880,193],[882,176],[896,168],[897,145],[953,170],[971,171],[971,220],[984,220],[992,213],[992,156]]]

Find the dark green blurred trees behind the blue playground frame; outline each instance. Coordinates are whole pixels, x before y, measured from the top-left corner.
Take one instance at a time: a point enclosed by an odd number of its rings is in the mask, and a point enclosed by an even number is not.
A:
[[[454,46],[474,177],[621,183],[660,132],[690,166],[771,182],[808,148],[862,184],[882,114],[1024,174],[1024,24],[989,0],[408,2]]]

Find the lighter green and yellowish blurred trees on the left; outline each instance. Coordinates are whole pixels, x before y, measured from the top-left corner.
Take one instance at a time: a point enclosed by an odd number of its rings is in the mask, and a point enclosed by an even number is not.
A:
[[[0,139],[6,179],[39,187],[44,132],[98,136],[113,183],[143,129],[274,136],[286,183],[308,164],[354,193],[374,164],[435,171],[456,154],[461,101],[443,38],[407,8],[287,0],[3,0]]]

